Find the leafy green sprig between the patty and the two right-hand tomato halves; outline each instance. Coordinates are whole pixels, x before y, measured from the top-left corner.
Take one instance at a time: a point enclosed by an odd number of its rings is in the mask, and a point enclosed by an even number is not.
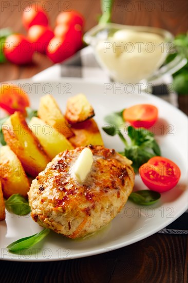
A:
[[[154,138],[154,134],[144,128],[135,129],[132,126],[128,126],[126,131],[129,136],[128,142],[123,135],[125,121],[123,120],[122,113],[123,111],[106,116],[105,121],[108,125],[105,125],[103,130],[111,136],[119,135],[125,146],[124,151],[120,153],[133,161],[134,170],[137,172],[139,167],[150,158],[161,155],[160,148]]]

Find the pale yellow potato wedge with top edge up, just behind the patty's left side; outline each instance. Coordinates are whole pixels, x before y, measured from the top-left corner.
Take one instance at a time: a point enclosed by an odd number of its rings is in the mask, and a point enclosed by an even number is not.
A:
[[[65,149],[73,149],[64,135],[59,133],[55,128],[47,125],[40,118],[32,117],[29,126],[39,139],[50,159]]]

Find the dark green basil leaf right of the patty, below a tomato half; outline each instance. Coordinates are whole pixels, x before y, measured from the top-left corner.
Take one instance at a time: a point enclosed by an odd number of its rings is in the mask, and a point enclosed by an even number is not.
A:
[[[131,192],[128,199],[136,204],[151,205],[158,201],[161,194],[153,190],[140,190],[137,192]]]

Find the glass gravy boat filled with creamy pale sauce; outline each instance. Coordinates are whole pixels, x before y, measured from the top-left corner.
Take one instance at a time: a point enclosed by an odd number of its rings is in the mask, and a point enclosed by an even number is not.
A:
[[[181,52],[166,64],[165,59],[175,50],[173,34],[167,30],[119,24],[93,27],[85,33],[84,41],[93,47],[100,66],[114,81],[147,83],[173,74],[187,60]]]

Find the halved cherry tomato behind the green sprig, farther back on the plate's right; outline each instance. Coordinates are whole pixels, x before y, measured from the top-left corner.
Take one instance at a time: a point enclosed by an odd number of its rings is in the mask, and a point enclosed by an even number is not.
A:
[[[135,128],[152,127],[158,119],[158,109],[151,104],[137,104],[123,111],[123,118]]]

